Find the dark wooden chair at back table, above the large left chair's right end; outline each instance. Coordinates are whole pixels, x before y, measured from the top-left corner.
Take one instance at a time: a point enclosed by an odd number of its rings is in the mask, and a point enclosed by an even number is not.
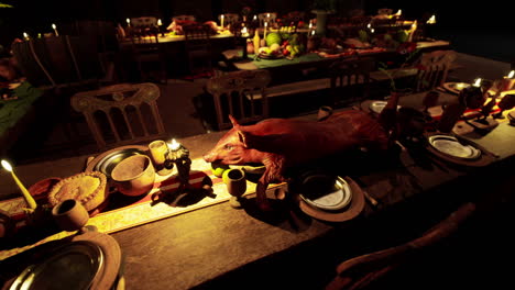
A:
[[[166,53],[160,45],[158,34],[156,26],[133,27],[131,30],[132,55],[142,81],[150,81],[150,71],[157,68],[160,81],[167,83]]]

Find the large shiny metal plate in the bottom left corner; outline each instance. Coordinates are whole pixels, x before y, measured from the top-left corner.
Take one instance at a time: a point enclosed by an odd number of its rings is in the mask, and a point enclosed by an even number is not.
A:
[[[89,289],[102,267],[103,253],[98,245],[72,242],[41,264],[25,268],[9,289]]]

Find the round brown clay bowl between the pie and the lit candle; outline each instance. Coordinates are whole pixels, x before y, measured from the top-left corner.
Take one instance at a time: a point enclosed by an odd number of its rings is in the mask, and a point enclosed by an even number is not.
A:
[[[154,187],[155,169],[146,155],[133,155],[121,160],[111,171],[111,178],[121,193],[136,197]]]

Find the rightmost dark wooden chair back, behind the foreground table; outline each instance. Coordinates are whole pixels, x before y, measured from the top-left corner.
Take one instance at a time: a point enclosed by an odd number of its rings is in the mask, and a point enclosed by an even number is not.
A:
[[[447,81],[449,68],[457,57],[454,51],[425,53],[418,63],[415,91],[426,91],[442,86]]]

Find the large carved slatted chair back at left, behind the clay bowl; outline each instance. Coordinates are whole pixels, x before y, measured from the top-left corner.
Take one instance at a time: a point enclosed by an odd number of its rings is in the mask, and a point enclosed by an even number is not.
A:
[[[121,83],[72,97],[72,108],[81,112],[99,149],[163,137],[157,109],[160,88],[150,82]]]

